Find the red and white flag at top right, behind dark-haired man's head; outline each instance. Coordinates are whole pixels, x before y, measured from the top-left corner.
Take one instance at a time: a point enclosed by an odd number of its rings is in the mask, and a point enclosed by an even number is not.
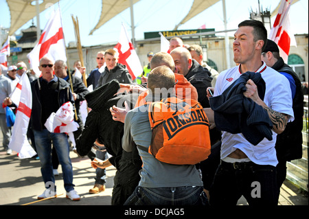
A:
[[[278,14],[271,28],[268,38],[277,43],[279,47],[279,54],[283,58],[284,62],[288,62],[288,53],[290,52],[290,46],[296,46],[295,36],[290,26],[290,5],[293,2],[288,0],[282,0],[278,10]]]

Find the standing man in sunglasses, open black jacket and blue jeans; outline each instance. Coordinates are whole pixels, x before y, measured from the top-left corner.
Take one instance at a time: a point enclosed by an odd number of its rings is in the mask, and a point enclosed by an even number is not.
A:
[[[43,194],[38,196],[38,199],[49,198],[56,194],[55,177],[51,161],[51,143],[53,142],[62,166],[67,198],[80,200],[80,196],[74,190],[73,169],[69,157],[67,135],[65,133],[49,132],[44,126],[49,115],[58,111],[62,104],[66,102],[73,104],[73,96],[69,84],[62,78],[54,76],[54,62],[52,60],[47,57],[41,58],[38,68],[42,72],[42,77],[31,83],[32,113],[30,119],[46,188]]]

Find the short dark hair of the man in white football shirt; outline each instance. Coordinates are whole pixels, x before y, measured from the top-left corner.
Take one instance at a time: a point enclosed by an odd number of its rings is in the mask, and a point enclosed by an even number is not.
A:
[[[264,47],[266,47],[267,42],[267,30],[264,27],[264,24],[261,21],[256,20],[246,20],[242,21],[238,24],[238,27],[250,26],[253,27],[253,41],[264,41],[264,45],[262,47],[262,51]]]

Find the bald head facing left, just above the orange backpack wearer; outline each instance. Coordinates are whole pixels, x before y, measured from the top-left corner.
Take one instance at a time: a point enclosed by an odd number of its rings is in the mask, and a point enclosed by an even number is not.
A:
[[[192,56],[190,51],[185,47],[176,47],[170,52],[170,55],[174,60],[177,73],[186,76],[192,67]]]

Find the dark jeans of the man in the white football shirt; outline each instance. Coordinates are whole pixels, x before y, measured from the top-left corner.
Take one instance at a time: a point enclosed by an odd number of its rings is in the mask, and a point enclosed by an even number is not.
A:
[[[237,205],[243,195],[249,205],[277,205],[277,191],[275,167],[221,161],[209,191],[209,204]]]

